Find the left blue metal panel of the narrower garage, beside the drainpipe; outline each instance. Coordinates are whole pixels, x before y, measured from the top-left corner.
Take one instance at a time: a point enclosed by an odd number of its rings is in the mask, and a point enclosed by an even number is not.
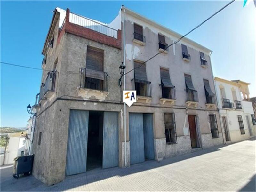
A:
[[[129,113],[130,163],[145,161],[143,114]]]

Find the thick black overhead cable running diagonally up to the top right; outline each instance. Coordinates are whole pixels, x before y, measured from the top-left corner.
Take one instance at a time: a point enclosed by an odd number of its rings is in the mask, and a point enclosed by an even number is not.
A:
[[[166,49],[168,49],[170,46],[178,43],[181,39],[183,39],[185,36],[187,36],[188,34],[190,34],[192,31],[196,30],[197,28],[199,28],[201,25],[203,25],[206,21],[210,20],[213,16],[215,16],[216,14],[218,14],[219,12],[221,12],[223,9],[225,9],[226,7],[228,7],[228,5],[230,5],[231,3],[233,3],[235,0],[230,1],[228,4],[226,4],[224,7],[222,7],[219,11],[215,12],[214,14],[212,14],[212,16],[208,17],[206,20],[204,20],[202,23],[200,23],[199,25],[197,25],[195,28],[193,28],[192,30],[190,30],[188,33],[186,33],[185,35],[181,36],[178,40],[176,40],[175,42],[173,42],[172,44],[168,45],[164,50],[156,53],[154,56],[150,57],[148,60],[146,60],[145,62],[141,63],[138,67],[135,67],[133,69],[131,69],[130,71],[124,73],[121,77],[123,77],[124,75],[126,75],[127,73],[132,72],[134,69],[140,68],[143,64],[146,64],[146,62],[148,62],[149,60],[155,58],[157,55],[163,53]]]

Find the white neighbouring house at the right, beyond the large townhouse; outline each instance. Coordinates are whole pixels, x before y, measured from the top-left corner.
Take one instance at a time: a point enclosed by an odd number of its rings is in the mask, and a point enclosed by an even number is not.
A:
[[[252,103],[242,100],[241,85],[219,77],[215,77],[214,81],[226,142],[237,142],[254,136],[252,126],[248,127],[247,123],[248,113],[253,114],[253,109],[252,112],[250,109],[252,106],[249,107]]]

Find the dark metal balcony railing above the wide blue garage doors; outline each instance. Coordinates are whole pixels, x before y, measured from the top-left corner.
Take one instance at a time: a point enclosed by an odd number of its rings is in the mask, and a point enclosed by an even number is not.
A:
[[[108,91],[108,73],[103,71],[96,72],[100,73],[103,78],[86,77],[86,68],[81,68],[80,87],[86,89]]]

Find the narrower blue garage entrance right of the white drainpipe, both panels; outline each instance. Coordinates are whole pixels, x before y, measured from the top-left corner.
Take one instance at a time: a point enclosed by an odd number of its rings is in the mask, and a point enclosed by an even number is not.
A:
[[[153,114],[129,113],[130,163],[155,159]]]

